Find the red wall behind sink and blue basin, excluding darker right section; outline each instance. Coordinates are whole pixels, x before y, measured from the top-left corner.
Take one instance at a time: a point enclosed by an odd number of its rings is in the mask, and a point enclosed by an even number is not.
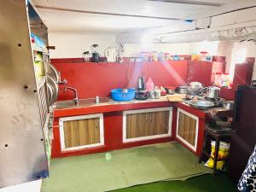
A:
[[[143,76],[145,81],[152,78],[155,85],[177,86],[185,84],[187,79],[187,61],[162,62],[125,62],[125,63],[57,63],[52,61],[61,79],[67,84],[60,85],[58,100],[73,98],[73,93],[63,92],[64,86],[78,89],[79,98],[109,96],[116,88],[137,87],[137,79]]]

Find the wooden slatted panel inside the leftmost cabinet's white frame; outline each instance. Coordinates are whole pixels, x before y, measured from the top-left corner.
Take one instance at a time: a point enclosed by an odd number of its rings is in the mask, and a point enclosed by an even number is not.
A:
[[[63,122],[65,148],[100,143],[100,119],[77,119]]]

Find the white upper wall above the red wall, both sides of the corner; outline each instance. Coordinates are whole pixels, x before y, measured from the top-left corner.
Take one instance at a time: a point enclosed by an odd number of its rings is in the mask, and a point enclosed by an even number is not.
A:
[[[49,45],[55,45],[50,50],[51,58],[82,57],[85,50],[91,51],[91,44],[99,44],[99,52],[103,56],[104,50],[115,46],[115,35],[104,33],[49,33]],[[226,57],[226,72],[230,72],[230,63],[234,49],[246,48],[246,56],[256,57],[256,45],[253,42],[198,42],[180,44],[124,44],[124,56],[139,56],[142,51],[168,52],[171,55],[190,55],[202,50],[211,55]],[[256,79],[256,65],[253,70],[253,79]]]

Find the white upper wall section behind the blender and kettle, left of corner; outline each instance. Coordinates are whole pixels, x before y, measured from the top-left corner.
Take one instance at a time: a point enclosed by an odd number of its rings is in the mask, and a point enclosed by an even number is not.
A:
[[[91,52],[92,44],[99,44],[100,55],[109,46],[115,46],[115,35],[104,33],[49,33],[49,45],[54,45],[55,50],[50,50],[51,58],[76,58],[82,57],[86,50]]]

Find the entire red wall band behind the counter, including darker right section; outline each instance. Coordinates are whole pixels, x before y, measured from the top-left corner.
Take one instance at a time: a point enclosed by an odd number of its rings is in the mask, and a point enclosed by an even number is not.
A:
[[[64,58],[51,62],[61,72],[61,79],[67,79],[67,84],[60,85],[59,101],[73,98],[71,91],[64,93],[65,86],[75,87],[80,99],[110,96],[110,90],[116,88],[136,88],[140,76],[146,82],[151,78],[158,86],[177,86],[192,81],[208,86],[214,80],[213,73],[222,73],[225,69],[224,61],[85,63],[82,58]]]

